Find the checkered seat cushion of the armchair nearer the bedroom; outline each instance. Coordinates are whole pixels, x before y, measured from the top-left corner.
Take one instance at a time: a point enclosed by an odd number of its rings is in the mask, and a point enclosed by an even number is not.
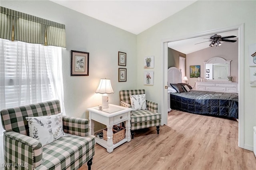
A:
[[[148,122],[158,119],[161,119],[161,114],[149,110],[132,111],[131,115],[131,123]]]

